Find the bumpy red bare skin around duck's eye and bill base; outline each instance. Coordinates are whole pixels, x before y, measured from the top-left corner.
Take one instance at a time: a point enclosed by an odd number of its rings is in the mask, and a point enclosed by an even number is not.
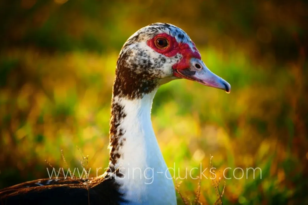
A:
[[[168,40],[168,46],[165,49],[159,49],[155,46],[155,41],[157,38],[166,38]],[[193,43],[193,42],[192,42]],[[201,59],[201,55],[196,48],[196,45],[193,43],[193,51],[187,43],[178,43],[175,37],[172,37],[168,34],[157,34],[154,38],[147,41],[148,46],[158,53],[161,53],[167,57],[175,56],[177,53],[180,53],[183,57],[181,60],[172,66],[173,69],[186,69],[190,67],[190,59],[197,58]]]

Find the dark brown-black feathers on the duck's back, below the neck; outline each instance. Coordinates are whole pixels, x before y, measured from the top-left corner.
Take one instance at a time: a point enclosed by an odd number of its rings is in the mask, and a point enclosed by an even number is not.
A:
[[[118,190],[111,178],[38,179],[0,190],[0,205],[117,205],[124,201]]]

